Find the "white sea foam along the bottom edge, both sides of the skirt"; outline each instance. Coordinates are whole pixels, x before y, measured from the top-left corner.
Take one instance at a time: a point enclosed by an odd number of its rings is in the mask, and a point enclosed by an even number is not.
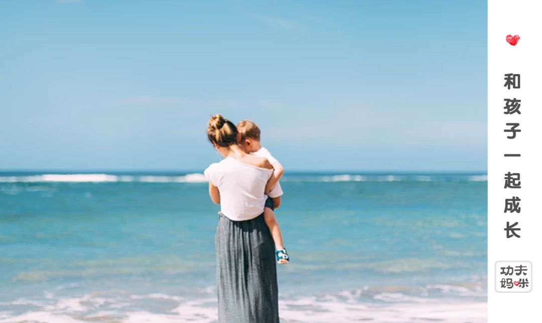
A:
[[[393,298],[393,297],[392,297]],[[397,296],[402,298],[402,296]],[[112,302],[111,306],[86,315],[76,308],[62,311],[42,309],[23,314],[0,313],[0,322],[85,322],[100,318],[101,321],[119,322],[215,322],[217,317],[216,298],[184,301],[166,313],[121,311],[124,302]],[[487,302],[465,300],[417,299],[415,301],[392,301],[386,303],[355,302],[339,298],[305,296],[296,299],[279,300],[279,313],[283,322],[420,322],[439,321],[487,322]]]

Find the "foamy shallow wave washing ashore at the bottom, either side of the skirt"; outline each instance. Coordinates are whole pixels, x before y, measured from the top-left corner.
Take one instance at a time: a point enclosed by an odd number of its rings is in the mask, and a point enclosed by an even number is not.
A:
[[[431,286],[450,290],[447,285]],[[387,289],[390,289],[388,287]],[[461,288],[460,288],[461,289]],[[376,322],[412,321],[486,322],[487,298],[435,298],[407,295],[403,292],[377,292],[371,299],[360,298],[371,288],[330,294],[280,296],[279,313],[285,322]],[[186,297],[162,293],[131,294],[125,290],[109,290],[80,295],[55,295],[46,292],[45,299],[17,299],[0,305],[30,306],[28,312],[0,312],[0,322],[89,320],[119,322],[215,322],[216,291],[202,297]],[[170,308],[164,311],[164,306]]]

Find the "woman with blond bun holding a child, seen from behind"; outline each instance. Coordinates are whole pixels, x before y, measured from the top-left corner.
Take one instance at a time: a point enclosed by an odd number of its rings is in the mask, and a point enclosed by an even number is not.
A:
[[[207,134],[224,157],[204,171],[209,195],[221,205],[215,235],[218,321],[279,322],[275,247],[263,219],[273,166],[243,152],[237,128],[220,114],[209,120]]]

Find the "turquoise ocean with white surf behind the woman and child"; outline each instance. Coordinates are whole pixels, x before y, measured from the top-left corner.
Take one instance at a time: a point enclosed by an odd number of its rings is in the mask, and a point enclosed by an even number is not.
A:
[[[487,321],[484,173],[286,173],[282,322]],[[0,322],[215,322],[202,173],[0,172]]]

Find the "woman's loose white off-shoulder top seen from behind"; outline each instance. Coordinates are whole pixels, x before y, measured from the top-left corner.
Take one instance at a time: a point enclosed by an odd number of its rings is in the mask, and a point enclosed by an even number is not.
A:
[[[253,219],[263,213],[267,196],[264,194],[273,169],[242,163],[227,157],[213,163],[203,172],[220,191],[220,208],[224,216],[233,221]],[[282,195],[279,185],[269,197]]]

